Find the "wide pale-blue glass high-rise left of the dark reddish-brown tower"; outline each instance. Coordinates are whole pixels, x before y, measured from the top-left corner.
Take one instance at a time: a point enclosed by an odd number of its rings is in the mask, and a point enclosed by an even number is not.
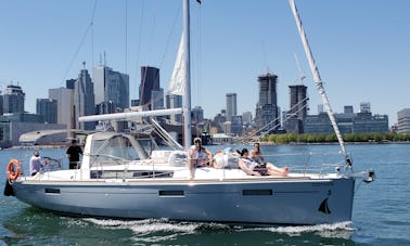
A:
[[[123,112],[129,107],[129,76],[127,74],[100,65],[94,67],[92,72],[92,82],[97,105],[110,104],[115,108],[115,112]]]

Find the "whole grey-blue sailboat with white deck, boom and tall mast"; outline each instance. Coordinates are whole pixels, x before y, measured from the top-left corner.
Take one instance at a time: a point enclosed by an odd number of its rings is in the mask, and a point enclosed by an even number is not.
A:
[[[184,147],[175,143],[176,150],[155,148],[153,138],[144,132],[90,133],[78,169],[42,170],[25,177],[20,173],[18,160],[13,159],[8,168],[8,194],[35,207],[84,217],[167,218],[256,226],[351,221],[355,182],[363,176],[370,182],[374,176],[372,171],[353,172],[336,124],[344,161],[329,173],[307,169],[300,173],[291,171],[287,177],[248,176],[228,165],[232,158],[227,152],[218,160],[220,168],[196,168],[194,177],[190,177],[189,0],[182,4],[183,108],[85,116],[79,120],[128,120],[182,113]],[[306,52],[311,56],[294,1],[290,0],[290,4]],[[326,101],[312,57],[309,62]],[[331,116],[329,102],[325,105]]]

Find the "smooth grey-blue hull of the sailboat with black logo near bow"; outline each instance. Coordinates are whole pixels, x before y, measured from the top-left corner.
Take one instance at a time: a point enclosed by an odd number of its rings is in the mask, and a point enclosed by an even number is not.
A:
[[[350,221],[354,186],[354,178],[18,180],[13,184],[15,195],[22,202],[57,212],[240,224]]]

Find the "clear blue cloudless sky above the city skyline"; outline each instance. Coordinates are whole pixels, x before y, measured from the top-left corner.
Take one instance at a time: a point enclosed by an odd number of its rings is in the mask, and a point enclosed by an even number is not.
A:
[[[48,89],[77,78],[82,61],[91,72],[104,51],[110,67],[130,75],[131,99],[138,99],[143,65],[161,68],[161,86],[168,88],[181,34],[180,0],[0,3],[0,89],[18,82],[26,111],[35,113],[36,99],[48,98]],[[296,4],[333,111],[353,105],[358,112],[360,102],[370,102],[374,114],[397,122],[397,112],[410,107],[410,1]],[[257,76],[269,69],[279,77],[278,104],[287,109],[289,85],[300,75],[296,54],[307,76],[310,114],[317,114],[320,98],[286,0],[191,5],[192,106],[213,118],[226,107],[226,93],[235,92],[238,113],[254,115]]]

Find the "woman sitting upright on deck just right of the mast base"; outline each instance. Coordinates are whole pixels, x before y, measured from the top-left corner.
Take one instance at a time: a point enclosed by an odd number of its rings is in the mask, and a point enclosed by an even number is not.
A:
[[[193,178],[193,168],[212,166],[213,153],[202,146],[200,138],[194,139],[194,145],[190,150],[191,178]]]

